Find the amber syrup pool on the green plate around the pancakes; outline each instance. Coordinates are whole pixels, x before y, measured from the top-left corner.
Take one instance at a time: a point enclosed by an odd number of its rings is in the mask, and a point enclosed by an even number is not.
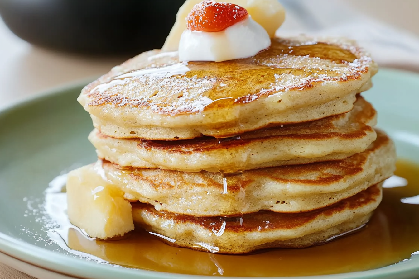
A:
[[[140,228],[112,241],[88,238],[68,222],[65,193],[60,189],[65,179],[61,178],[46,191],[45,211],[60,225],[49,230],[48,235],[61,248],[78,256],[181,274],[305,276],[375,269],[419,254],[419,165],[399,161],[396,175],[385,182],[383,202],[364,228],[304,249],[214,254],[169,246]]]

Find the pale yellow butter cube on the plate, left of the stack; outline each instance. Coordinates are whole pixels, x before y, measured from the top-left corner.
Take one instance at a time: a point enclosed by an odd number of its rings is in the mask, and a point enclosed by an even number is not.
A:
[[[103,175],[100,161],[70,171],[66,185],[67,215],[73,225],[90,237],[106,239],[134,230],[134,222],[124,192]]]

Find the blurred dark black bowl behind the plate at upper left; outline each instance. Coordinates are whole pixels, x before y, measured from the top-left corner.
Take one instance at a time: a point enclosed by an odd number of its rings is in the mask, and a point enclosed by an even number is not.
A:
[[[13,33],[36,46],[89,55],[159,49],[185,0],[0,0]]]

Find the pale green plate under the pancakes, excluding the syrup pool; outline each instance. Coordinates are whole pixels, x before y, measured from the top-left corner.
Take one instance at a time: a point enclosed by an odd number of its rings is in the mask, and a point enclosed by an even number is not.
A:
[[[364,96],[378,110],[379,126],[396,142],[399,157],[419,163],[419,75],[382,69],[374,83]],[[54,177],[96,160],[94,148],[87,140],[91,119],[75,100],[83,85],[48,92],[0,112],[0,252],[26,264],[78,278],[202,277],[97,264],[68,255],[57,244],[46,241],[47,233],[39,222],[42,212],[33,214],[36,208],[28,211],[26,197],[42,200]],[[292,278],[418,277],[419,256],[413,256],[375,270]]]

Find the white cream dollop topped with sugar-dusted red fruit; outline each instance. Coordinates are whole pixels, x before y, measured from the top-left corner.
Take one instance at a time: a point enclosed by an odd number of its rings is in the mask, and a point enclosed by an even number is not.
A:
[[[243,7],[203,1],[189,13],[179,42],[180,61],[247,58],[271,45],[266,30]]]

